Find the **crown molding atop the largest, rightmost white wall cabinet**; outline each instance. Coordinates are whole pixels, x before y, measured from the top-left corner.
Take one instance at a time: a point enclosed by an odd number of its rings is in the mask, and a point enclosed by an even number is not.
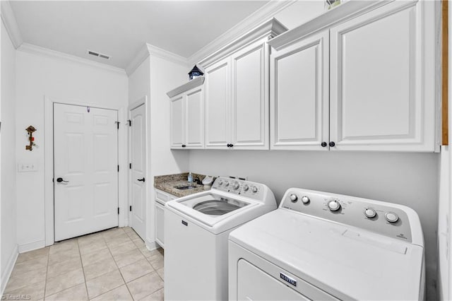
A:
[[[291,45],[292,43],[297,42],[297,40],[307,37],[308,35],[319,33],[321,30],[330,28],[331,26],[342,23],[345,20],[355,18],[359,15],[362,15],[363,13],[372,11],[375,8],[379,8],[380,6],[386,5],[392,1],[394,0],[346,1],[345,3],[331,9],[330,11],[321,13],[321,15],[312,18],[306,23],[303,23],[296,28],[278,35],[278,37],[270,40],[268,44],[278,50],[281,47]],[[414,5],[417,1],[419,0],[406,1],[406,4],[407,6]]]

